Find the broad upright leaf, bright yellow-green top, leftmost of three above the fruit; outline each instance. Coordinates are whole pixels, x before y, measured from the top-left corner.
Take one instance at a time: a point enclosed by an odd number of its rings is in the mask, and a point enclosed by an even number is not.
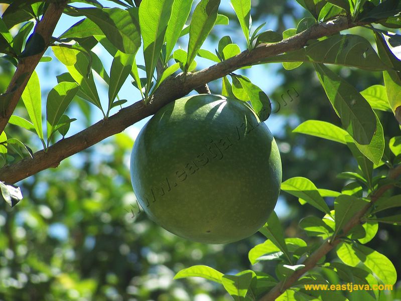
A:
[[[139,8],[139,22],[144,39],[147,90],[150,91],[153,73],[162,51],[174,0],[143,0]]]

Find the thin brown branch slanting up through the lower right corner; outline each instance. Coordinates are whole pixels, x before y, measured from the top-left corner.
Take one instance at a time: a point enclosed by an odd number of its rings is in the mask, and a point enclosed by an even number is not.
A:
[[[396,179],[401,175],[401,165],[396,168],[391,169],[388,173],[388,178]],[[370,207],[377,201],[377,199],[382,196],[388,189],[393,187],[393,185],[385,185],[380,187],[371,197],[370,202],[362,210],[360,210],[343,228],[343,235],[346,235],[353,227],[361,223],[361,218],[366,214]],[[302,264],[305,265],[302,269],[296,270],[294,274],[289,276],[286,280],[282,280],[276,284],[268,293],[262,296],[259,301],[274,301],[279,297],[287,288],[297,281],[302,275],[307,271],[314,268],[317,262],[325,256],[329,251],[334,249],[341,242],[341,237],[335,238],[333,241],[327,239],[315,252],[313,252],[308,259]]]

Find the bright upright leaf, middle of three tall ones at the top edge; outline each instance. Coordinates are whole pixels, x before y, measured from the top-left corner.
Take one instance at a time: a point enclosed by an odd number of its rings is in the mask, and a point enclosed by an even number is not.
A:
[[[173,49],[180,37],[181,30],[191,12],[193,0],[175,0],[171,18],[166,30],[166,60],[167,63]]]

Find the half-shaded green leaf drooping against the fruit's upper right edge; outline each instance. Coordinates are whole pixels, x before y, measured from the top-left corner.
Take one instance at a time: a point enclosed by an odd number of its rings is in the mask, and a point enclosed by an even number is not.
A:
[[[266,93],[264,93],[258,86],[254,85],[247,77],[235,75],[235,78],[240,82],[247,98],[252,104],[253,110],[260,118],[260,121],[268,119],[272,112],[272,104],[268,95],[266,95]]]

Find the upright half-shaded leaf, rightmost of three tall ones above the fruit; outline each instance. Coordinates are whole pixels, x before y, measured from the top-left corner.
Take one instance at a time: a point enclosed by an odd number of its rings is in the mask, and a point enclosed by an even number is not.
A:
[[[219,5],[220,0],[201,0],[196,6],[189,29],[188,58],[185,71],[189,70],[196,54],[212,30],[217,20]]]

